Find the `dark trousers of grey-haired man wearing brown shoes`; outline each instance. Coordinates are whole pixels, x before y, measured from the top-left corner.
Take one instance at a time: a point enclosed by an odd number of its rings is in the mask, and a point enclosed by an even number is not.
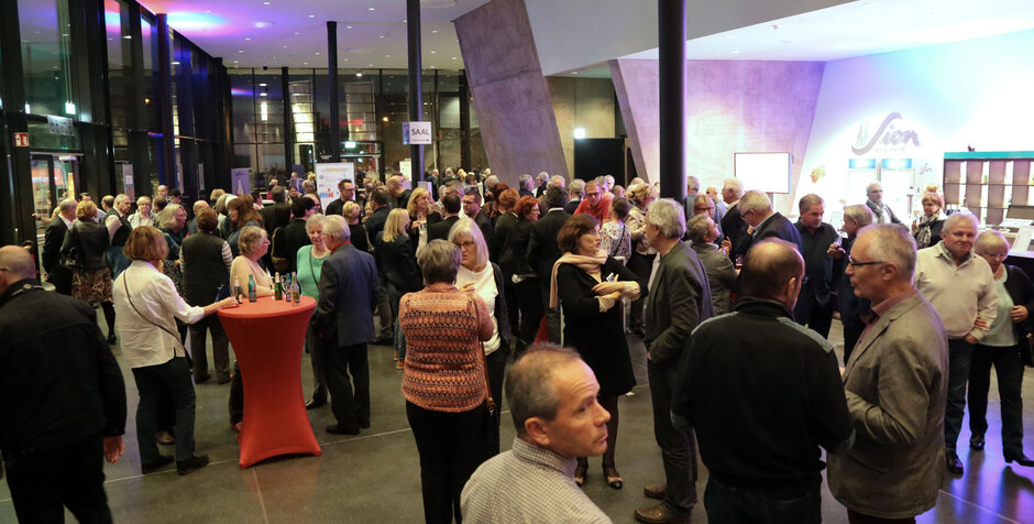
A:
[[[678,359],[675,359],[678,360]],[[671,423],[671,396],[675,386],[676,364],[647,362],[650,395],[653,402],[653,436],[661,448],[668,494],[664,502],[679,510],[690,511],[696,504],[696,435],[680,432]]]

